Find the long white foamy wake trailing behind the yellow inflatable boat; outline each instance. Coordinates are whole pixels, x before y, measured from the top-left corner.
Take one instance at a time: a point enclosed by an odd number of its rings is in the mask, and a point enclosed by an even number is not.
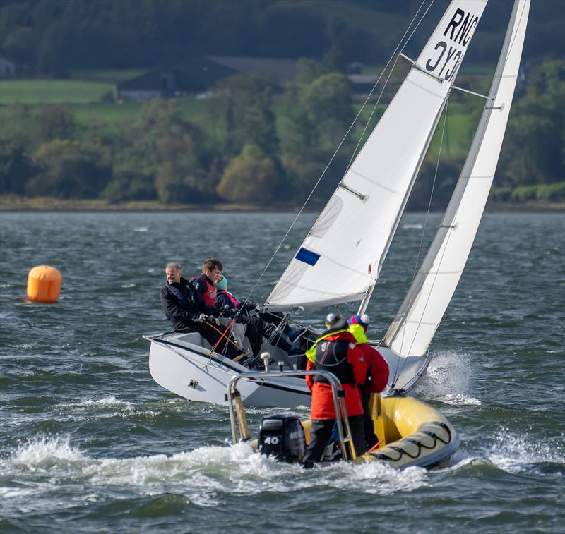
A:
[[[47,494],[58,480],[89,487],[131,487],[136,493],[158,494],[171,487],[199,506],[220,506],[226,493],[255,495],[328,487],[368,494],[412,491],[430,484],[421,468],[405,471],[379,462],[335,463],[304,471],[252,451],[247,444],[199,447],[172,456],[96,459],[73,446],[69,436],[40,436],[20,445],[0,468],[8,480],[32,485]],[[6,480],[6,478],[4,479]],[[25,490],[0,485],[0,495],[18,498]]]

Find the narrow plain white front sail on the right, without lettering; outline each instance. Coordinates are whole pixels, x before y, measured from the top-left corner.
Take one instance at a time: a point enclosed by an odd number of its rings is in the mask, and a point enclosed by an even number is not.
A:
[[[516,0],[490,99],[444,219],[385,336],[400,356],[422,356],[451,301],[487,202],[510,112],[530,0]]]

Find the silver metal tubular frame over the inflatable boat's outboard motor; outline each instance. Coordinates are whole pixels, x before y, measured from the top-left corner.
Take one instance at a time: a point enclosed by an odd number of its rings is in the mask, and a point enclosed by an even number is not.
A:
[[[324,377],[328,383],[331,385],[331,392],[333,397],[333,408],[335,410],[335,424],[338,427],[338,435],[340,437],[340,449],[343,459],[347,459],[347,454],[345,452],[345,443],[349,444],[351,458],[355,460],[357,457],[355,454],[355,447],[353,446],[353,440],[351,438],[351,428],[349,424],[349,418],[347,417],[347,409],[345,408],[345,392],[341,387],[341,382],[336,377],[333,372],[328,371],[269,371],[269,372],[242,372],[241,374],[232,377],[230,382],[227,384],[227,406],[230,408],[230,424],[232,426],[232,438],[234,444],[238,441],[246,441],[249,439],[249,430],[247,427],[247,420],[245,416],[245,411],[243,407],[242,396],[236,388],[237,382],[242,378],[281,378],[281,377],[307,377],[307,376],[321,376]],[[234,408],[234,399],[237,407]],[[236,412],[237,412],[237,423],[236,423]],[[339,417],[341,413],[342,417]],[[343,432],[343,423],[345,425],[345,434]],[[241,439],[237,438],[237,429],[239,426],[239,434]]]

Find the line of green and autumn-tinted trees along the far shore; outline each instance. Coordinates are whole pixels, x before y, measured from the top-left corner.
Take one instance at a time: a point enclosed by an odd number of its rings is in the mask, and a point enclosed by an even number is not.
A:
[[[283,95],[273,95],[261,78],[223,80],[208,106],[209,128],[184,119],[176,99],[147,102],[139,120],[116,133],[79,128],[66,106],[20,106],[13,120],[22,129],[0,146],[0,191],[109,202],[295,205],[324,173],[355,118],[349,81],[334,60],[300,60]],[[315,201],[326,200],[343,176],[361,130],[333,158]],[[430,151],[424,160],[412,208],[428,205],[436,155]],[[439,162],[434,207],[446,204],[462,163]],[[564,166],[565,61],[549,60],[531,69],[516,95],[492,198],[563,201]]]

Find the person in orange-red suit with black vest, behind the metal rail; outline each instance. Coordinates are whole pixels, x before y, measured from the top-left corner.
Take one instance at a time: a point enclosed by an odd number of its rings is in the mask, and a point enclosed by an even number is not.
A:
[[[347,331],[347,322],[333,313],[326,318],[326,332],[316,341],[313,360],[309,358],[307,370],[333,372],[345,391],[345,408],[350,422],[355,454],[367,449],[363,431],[363,406],[358,384],[367,377],[367,365],[362,351],[355,344],[355,337]],[[335,423],[335,409],[331,385],[321,376],[307,376],[306,382],[312,392],[310,417],[310,440],[302,463],[311,467],[321,461]]]

